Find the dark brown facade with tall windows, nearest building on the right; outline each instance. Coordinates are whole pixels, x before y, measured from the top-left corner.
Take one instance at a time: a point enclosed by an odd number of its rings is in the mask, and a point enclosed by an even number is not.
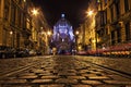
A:
[[[97,48],[131,42],[131,1],[102,0],[98,7]]]

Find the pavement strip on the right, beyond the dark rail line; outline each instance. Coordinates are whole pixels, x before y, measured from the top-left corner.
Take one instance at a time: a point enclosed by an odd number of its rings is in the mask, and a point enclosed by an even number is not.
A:
[[[131,75],[130,58],[105,58],[105,57],[82,57],[82,58],[84,61],[90,61]]]

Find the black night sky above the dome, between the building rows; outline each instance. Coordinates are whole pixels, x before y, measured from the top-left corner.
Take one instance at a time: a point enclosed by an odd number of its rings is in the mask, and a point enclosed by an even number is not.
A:
[[[52,27],[66,14],[66,18],[75,29],[85,20],[88,0],[32,0],[35,7],[43,9],[44,15]]]

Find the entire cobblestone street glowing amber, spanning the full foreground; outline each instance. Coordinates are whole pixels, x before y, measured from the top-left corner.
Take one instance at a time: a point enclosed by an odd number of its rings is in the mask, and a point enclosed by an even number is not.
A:
[[[131,87],[130,61],[81,55],[0,59],[0,87]]]

